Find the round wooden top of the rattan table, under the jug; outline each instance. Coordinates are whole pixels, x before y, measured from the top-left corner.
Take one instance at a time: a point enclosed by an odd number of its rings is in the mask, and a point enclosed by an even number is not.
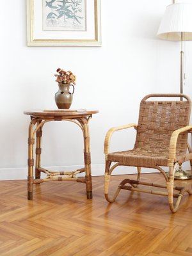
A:
[[[31,115],[31,116],[89,116],[92,114],[99,113],[98,110],[90,110],[90,109],[40,109],[40,110],[26,110],[24,111],[25,115]]]

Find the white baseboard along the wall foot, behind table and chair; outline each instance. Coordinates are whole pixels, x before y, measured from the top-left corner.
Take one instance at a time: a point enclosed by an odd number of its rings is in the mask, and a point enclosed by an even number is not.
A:
[[[44,168],[52,171],[70,171],[77,170],[83,166],[46,166]],[[103,176],[105,170],[105,164],[92,164],[92,176]],[[157,170],[150,170],[151,172],[157,172]],[[136,168],[129,166],[120,166],[113,171],[115,175],[122,174],[133,174],[136,173]],[[143,169],[142,173],[148,173],[147,170]],[[44,173],[42,174],[42,177]],[[84,173],[81,173],[79,176],[83,176]],[[0,168],[0,180],[26,180],[28,177],[28,168]]]

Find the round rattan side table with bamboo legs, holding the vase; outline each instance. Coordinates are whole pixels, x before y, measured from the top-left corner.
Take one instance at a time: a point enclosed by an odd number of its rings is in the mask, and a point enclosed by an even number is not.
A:
[[[28,137],[28,199],[33,200],[33,184],[40,184],[47,181],[72,180],[86,184],[87,198],[92,199],[92,172],[90,154],[90,134],[88,122],[92,115],[98,113],[97,110],[29,110],[24,114],[31,116]],[[42,129],[45,123],[51,121],[70,121],[77,124],[83,131],[84,139],[84,168],[72,172],[51,172],[41,167],[41,143]],[[33,150],[36,136],[36,158],[33,158]],[[33,166],[35,164],[35,179],[33,176]],[[47,177],[41,179],[41,172],[46,173]],[[78,173],[85,172],[85,177],[76,177]]]

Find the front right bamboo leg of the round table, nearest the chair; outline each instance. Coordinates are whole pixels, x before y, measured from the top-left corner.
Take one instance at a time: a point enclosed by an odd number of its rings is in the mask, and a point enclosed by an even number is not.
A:
[[[83,136],[84,136],[84,168],[86,195],[88,199],[92,199],[92,170],[91,170],[91,154],[90,154],[90,134],[88,120],[83,119]]]

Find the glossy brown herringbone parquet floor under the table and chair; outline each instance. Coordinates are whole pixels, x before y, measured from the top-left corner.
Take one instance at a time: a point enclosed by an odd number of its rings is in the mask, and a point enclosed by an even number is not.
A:
[[[115,176],[111,188],[125,177],[133,175]],[[163,184],[162,175],[148,178]],[[84,184],[45,182],[29,201],[26,180],[1,181],[0,255],[192,255],[192,196],[172,214],[164,196],[121,191],[108,204],[103,191],[104,177],[93,177],[93,200]]]

